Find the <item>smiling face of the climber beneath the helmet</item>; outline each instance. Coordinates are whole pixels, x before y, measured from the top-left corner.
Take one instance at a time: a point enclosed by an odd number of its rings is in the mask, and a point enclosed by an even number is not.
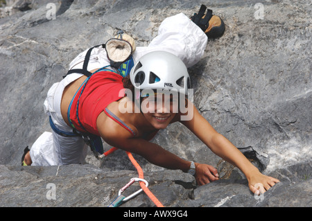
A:
[[[177,113],[178,98],[172,94],[156,94],[143,99],[141,112],[155,129],[164,129]]]

